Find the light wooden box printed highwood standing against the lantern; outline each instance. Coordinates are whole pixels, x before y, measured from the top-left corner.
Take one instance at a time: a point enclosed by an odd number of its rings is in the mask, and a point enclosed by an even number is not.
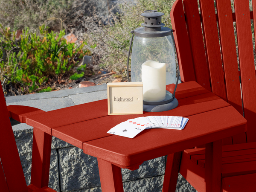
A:
[[[108,115],[143,114],[143,83],[108,83]]]

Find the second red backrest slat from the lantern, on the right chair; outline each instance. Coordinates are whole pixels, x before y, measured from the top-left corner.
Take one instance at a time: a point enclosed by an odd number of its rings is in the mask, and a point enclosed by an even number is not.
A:
[[[198,2],[197,0],[183,0],[183,6],[194,61],[196,81],[202,87],[211,91],[209,73],[206,73],[208,71],[208,66],[205,57],[204,39],[198,11]]]

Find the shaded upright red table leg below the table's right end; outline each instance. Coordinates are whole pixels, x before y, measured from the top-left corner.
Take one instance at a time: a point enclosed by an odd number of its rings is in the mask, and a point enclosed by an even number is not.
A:
[[[206,144],[205,182],[207,192],[221,191],[222,140]]]

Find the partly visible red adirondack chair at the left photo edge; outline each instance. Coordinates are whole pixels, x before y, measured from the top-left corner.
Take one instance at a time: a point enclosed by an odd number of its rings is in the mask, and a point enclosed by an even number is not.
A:
[[[0,191],[1,192],[56,192],[48,187],[52,136],[34,128],[32,147],[31,184],[26,186],[20,157],[15,143],[10,118],[26,123],[26,116],[44,111],[26,107],[6,106],[0,86]]]

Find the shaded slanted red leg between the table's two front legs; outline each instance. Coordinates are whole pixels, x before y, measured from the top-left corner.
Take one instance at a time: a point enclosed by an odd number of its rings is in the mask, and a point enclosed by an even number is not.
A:
[[[182,151],[168,155],[162,192],[175,192],[180,169],[181,155]]]

